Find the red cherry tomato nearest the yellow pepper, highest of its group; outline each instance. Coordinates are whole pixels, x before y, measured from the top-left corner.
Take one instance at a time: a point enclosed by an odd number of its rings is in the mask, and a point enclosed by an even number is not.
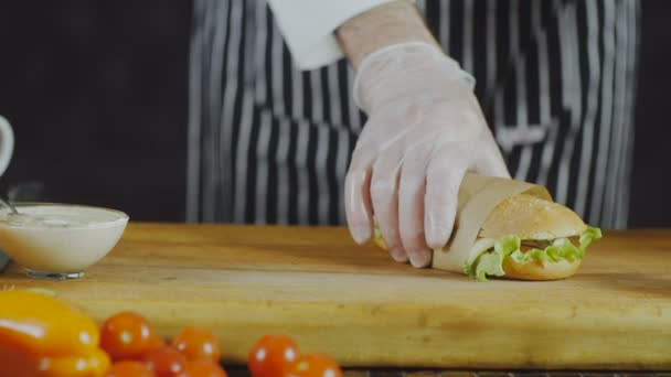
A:
[[[100,347],[113,360],[139,359],[147,351],[151,325],[134,312],[120,312],[110,316],[100,328]]]

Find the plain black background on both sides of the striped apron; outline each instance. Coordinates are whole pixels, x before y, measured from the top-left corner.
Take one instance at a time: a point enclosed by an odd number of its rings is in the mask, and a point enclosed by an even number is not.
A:
[[[671,1],[642,0],[632,227],[671,226]],[[0,115],[17,133],[0,192],[183,220],[191,2],[2,1]]]

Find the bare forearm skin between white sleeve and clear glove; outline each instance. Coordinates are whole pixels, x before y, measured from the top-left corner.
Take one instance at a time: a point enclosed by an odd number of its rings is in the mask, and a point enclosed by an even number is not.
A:
[[[393,1],[361,13],[336,32],[338,41],[354,67],[370,53],[402,42],[437,44],[416,6]]]

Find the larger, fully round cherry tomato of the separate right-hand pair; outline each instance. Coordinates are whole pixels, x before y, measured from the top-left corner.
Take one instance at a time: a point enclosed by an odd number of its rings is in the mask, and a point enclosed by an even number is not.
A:
[[[298,358],[298,344],[286,335],[266,335],[249,351],[254,377],[278,377]]]

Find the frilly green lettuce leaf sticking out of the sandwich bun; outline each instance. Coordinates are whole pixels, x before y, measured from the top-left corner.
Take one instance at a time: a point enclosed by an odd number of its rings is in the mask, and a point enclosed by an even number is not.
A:
[[[601,230],[595,227],[587,229],[579,237],[579,245],[573,245],[568,238],[557,238],[544,249],[534,248],[526,252],[521,250],[520,237],[510,235],[494,243],[493,248],[480,254],[472,263],[466,263],[465,272],[478,280],[487,280],[487,277],[502,277],[503,261],[512,258],[518,263],[531,261],[557,262],[562,259],[568,261],[585,258],[585,250],[595,240],[601,238]]]

